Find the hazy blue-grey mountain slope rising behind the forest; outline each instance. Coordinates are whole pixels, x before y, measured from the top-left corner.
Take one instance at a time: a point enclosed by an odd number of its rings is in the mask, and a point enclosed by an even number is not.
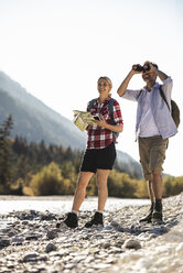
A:
[[[29,94],[19,83],[0,72],[0,123],[12,114],[11,136],[21,135],[28,142],[55,143],[62,146],[84,150],[86,134],[82,133],[71,120],[57,113],[41,100]],[[130,173],[142,177],[140,164],[130,155],[117,151],[118,162]]]

